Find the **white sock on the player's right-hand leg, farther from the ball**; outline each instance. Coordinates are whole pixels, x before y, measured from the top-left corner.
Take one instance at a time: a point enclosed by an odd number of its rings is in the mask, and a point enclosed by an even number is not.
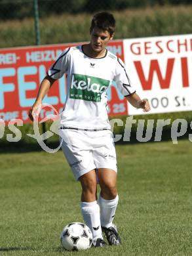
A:
[[[115,210],[117,208],[119,196],[117,195],[113,200],[105,200],[100,195],[100,212],[101,212],[101,225],[109,228],[112,225],[113,218],[115,216]]]

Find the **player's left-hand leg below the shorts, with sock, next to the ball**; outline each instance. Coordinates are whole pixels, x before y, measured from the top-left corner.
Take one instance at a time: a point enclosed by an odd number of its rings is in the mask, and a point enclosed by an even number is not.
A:
[[[96,172],[89,171],[79,177],[81,182],[81,213],[85,224],[90,228],[93,235],[94,246],[104,246],[106,243],[102,237],[102,228],[100,223],[100,206],[96,201]]]

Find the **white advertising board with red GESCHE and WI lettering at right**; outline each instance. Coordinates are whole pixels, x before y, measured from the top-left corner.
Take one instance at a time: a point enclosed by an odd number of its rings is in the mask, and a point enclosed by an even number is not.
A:
[[[128,104],[128,114],[192,110],[192,35],[125,39],[125,65],[136,91],[151,111]]]

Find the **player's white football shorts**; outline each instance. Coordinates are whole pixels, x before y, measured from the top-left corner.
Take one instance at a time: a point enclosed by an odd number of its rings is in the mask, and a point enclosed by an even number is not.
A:
[[[108,168],[117,172],[115,144],[110,130],[60,129],[61,141],[62,150],[76,180],[98,168]]]

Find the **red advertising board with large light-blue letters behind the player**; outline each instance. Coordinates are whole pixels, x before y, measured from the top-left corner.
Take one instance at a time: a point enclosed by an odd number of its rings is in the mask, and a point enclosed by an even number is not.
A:
[[[28,122],[28,111],[33,105],[39,85],[48,68],[66,49],[82,43],[19,47],[0,50],[0,119],[8,122],[19,118]],[[124,61],[123,41],[113,41],[109,51]],[[108,89],[109,116],[126,115],[126,99],[115,84]],[[54,83],[44,102],[60,112],[66,100],[66,79],[62,77]],[[50,113],[48,113],[50,114]],[[41,113],[41,118],[47,115]]]

